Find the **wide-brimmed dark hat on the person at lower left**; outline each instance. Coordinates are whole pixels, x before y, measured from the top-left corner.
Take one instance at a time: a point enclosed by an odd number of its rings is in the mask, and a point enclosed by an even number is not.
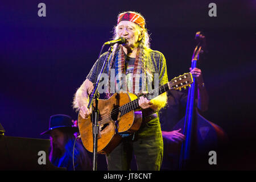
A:
[[[69,115],[55,114],[49,119],[49,129],[41,133],[41,135],[49,134],[53,129],[65,127],[72,133],[79,132],[78,127],[73,126],[72,119]]]

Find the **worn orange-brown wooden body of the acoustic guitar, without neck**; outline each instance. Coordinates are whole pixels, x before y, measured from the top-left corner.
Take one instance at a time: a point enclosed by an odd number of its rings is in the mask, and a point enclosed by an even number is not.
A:
[[[128,93],[115,93],[108,100],[98,100],[99,126],[98,134],[98,153],[109,154],[120,142],[121,136],[118,133],[132,133],[139,129],[142,122],[142,111],[131,110],[129,113],[119,117],[119,112],[114,113],[114,109],[125,105],[137,96]],[[118,125],[115,121],[118,120]],[[93,131],[92,119],[83,119],[79,114],[79,131],[82,143],[86,150],[93,152]],[[117,129],[118,133],[115,131]]]

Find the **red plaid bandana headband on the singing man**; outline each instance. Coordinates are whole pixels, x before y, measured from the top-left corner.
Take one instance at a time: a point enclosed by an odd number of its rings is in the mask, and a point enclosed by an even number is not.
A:
[[[142,27],[143,29],[145,28],[145,20],[144,18],[142,18],[141,15],[134,13],[134,12],[126,12],[126,13],[122,13],[118,16],[117,19],[117,24],[121,21],[130,21],[130,22],[134,22],[137,23],[140,27]]]

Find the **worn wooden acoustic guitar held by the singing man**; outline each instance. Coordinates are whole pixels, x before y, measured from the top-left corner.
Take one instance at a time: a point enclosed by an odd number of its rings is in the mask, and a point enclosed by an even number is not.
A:
[[[170,89],[179,89],[193,83],[191,73],[184,73],[175,77],[167,84],[144,94],[151,100]],[[94,102],[95,104],[95,102]],[[94,105],[95,106],[95,105]],[[139,98],[131,93],[115,93],[108,100],[98,100],[98,154],[109,154],[121,141],[118,133],[134,133],[141,127],[142,111],[139,107]],[[78,117],[79,131],[82,143],[89,152],[93,152],[92,119],[89,116],[83,119]]]

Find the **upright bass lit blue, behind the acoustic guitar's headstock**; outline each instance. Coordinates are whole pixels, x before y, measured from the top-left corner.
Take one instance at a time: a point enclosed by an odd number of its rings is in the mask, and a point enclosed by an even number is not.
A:
[[[199,61],[205,47],[205,36],[200,31],[196,32],[195,39],[197,46],[192,55],[192,69],[196,68],[197,61]],[[180,149],[179,169],[193,169],[195,165],[200,163],[199,160],[205,160],[203,156],[209,157],[208,152],[216,150],[218,141],[225,137],[225,132],[221,127],[208,121],[197,111],[195,89],[196,81],[191,84],[188,90],[185,117],[174,127],[174,130],[181,128],[181,133],[185,135]],[[204,162],[208,163],[208,160]]]

